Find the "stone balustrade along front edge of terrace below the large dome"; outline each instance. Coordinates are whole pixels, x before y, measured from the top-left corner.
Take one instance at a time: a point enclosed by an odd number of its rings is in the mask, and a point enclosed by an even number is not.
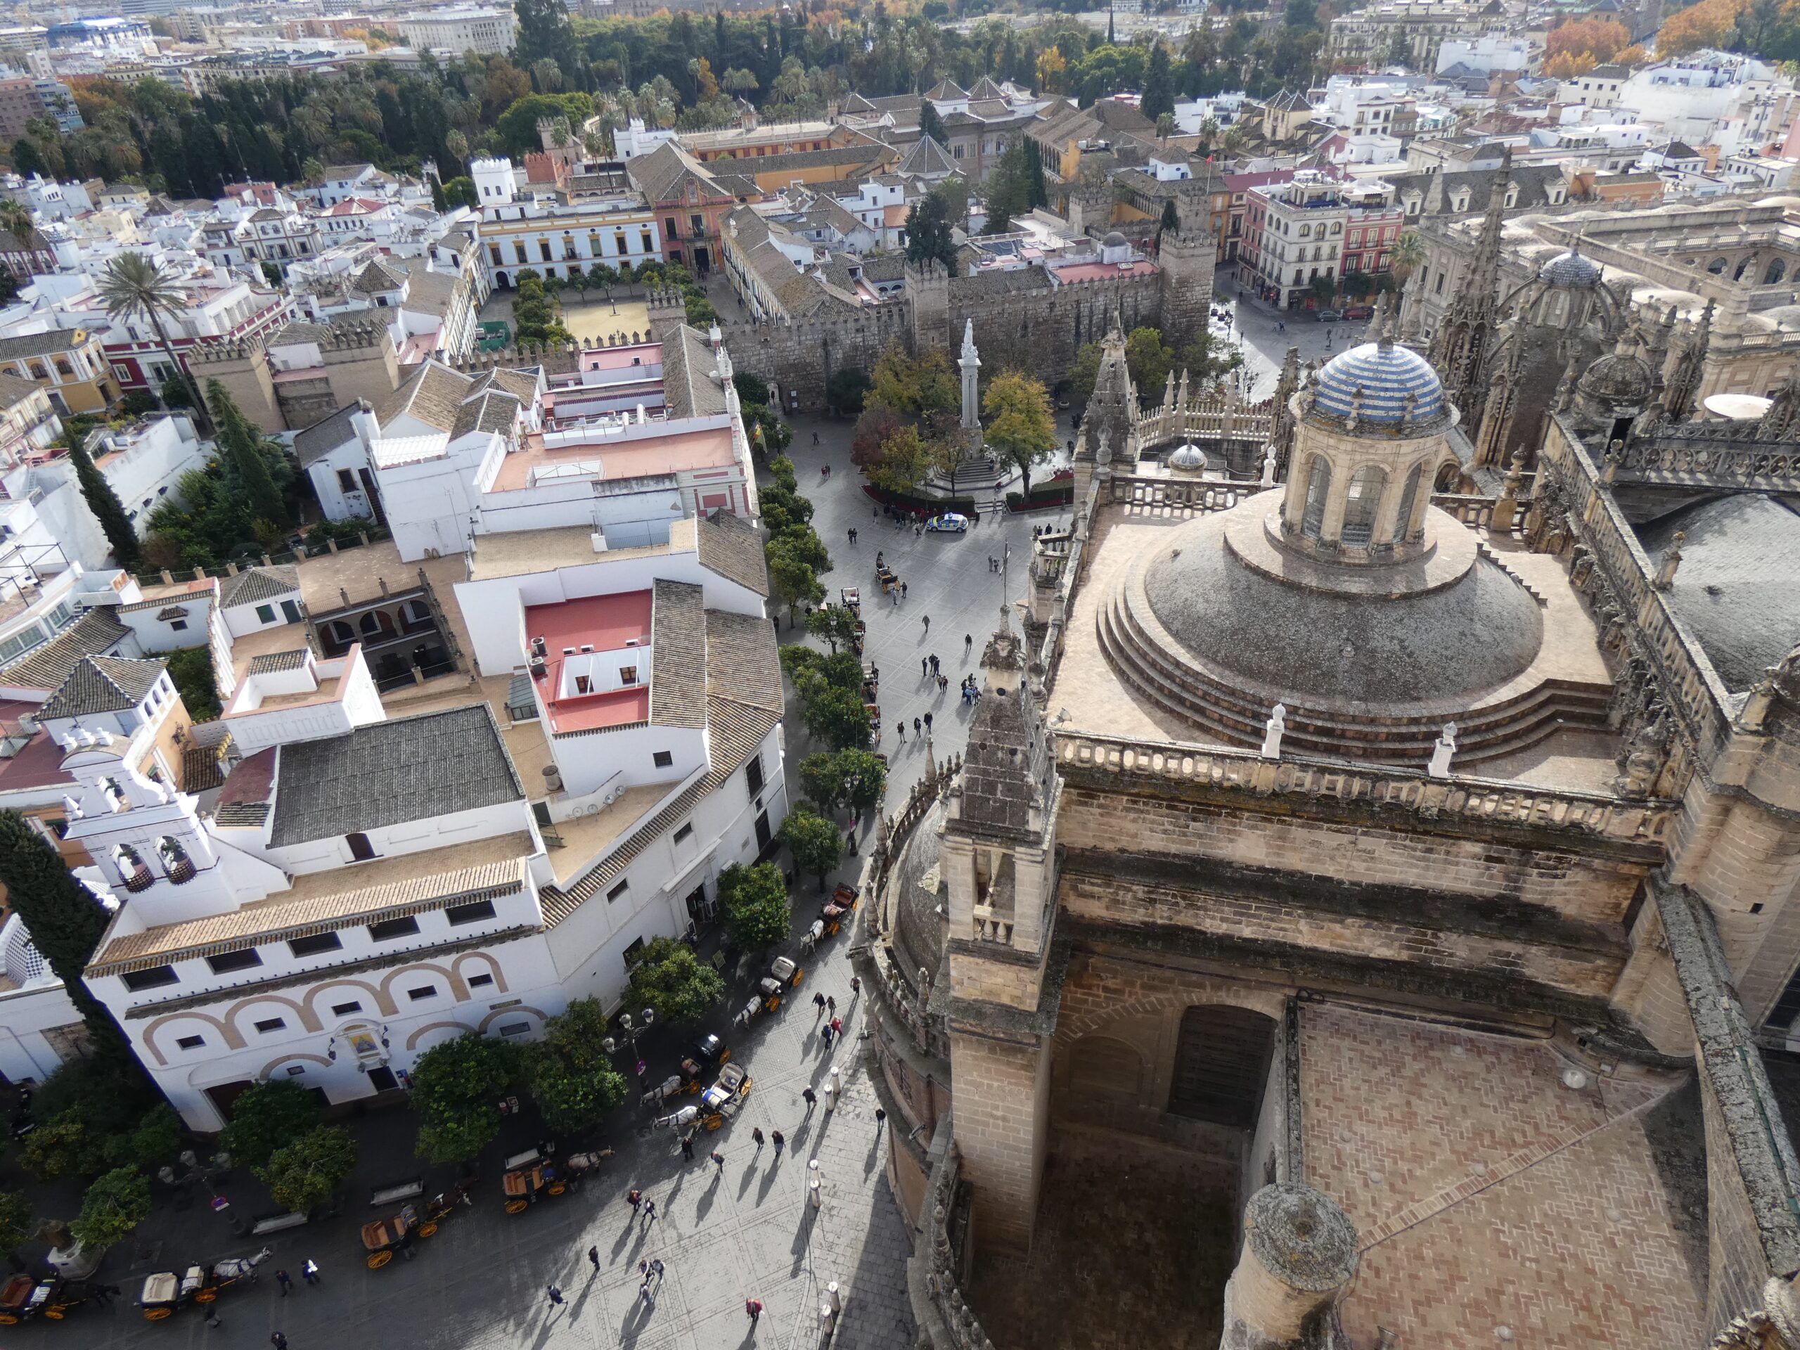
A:
[[[1426,772],[1287,756],[1213,745],[1139,745],[1116,736],[1057,734],[1057,761],[1067,778],[1080,770],[1143,774],[1172,783],[1235,788],[1260,797],[1330,797],[1411,810],[1424,817],[1456,815],[1534,830],[1570,830],[1604,839],[1661,842],[1679,814],[1674,801],[1627,801],[1604,792],[1521,788],[1483,778],[1431,778]]]

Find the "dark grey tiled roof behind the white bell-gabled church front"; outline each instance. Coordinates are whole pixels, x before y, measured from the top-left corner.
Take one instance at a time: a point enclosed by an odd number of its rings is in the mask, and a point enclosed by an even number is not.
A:
[[[526,796],[486,704],[283,745],[275,783],[275,848]]]

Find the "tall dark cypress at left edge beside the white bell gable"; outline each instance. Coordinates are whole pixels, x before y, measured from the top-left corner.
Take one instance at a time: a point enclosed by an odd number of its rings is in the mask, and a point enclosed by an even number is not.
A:
[[[18,812],[0,812],[0,884],[13,913],[25,923],[31,945],[63,981],[95,1051],[130,1062],[119,1024],[81,977],[112,914]]]

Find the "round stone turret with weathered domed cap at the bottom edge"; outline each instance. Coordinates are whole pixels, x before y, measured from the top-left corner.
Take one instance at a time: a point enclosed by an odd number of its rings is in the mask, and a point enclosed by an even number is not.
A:
[[[958,1085],[958,1125],[963,1102]],[[1337,1300],[1355,1274],[1355,1226],[1312,1186],[1264,1186],[1244,1206],[1244,1249],[1226,1282],[1220,1350],[1343,1345]]]

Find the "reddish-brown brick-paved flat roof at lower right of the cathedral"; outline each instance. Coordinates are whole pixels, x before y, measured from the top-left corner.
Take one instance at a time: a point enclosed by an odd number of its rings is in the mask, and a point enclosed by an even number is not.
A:
[[[1345,1328],[1373,1343],[1697,1345],[1705,1291],[1645,1136],[1660,1085],[1570,1091],[1543,1042],[1307,1004],[1307,1181],[1364,1246]]]

